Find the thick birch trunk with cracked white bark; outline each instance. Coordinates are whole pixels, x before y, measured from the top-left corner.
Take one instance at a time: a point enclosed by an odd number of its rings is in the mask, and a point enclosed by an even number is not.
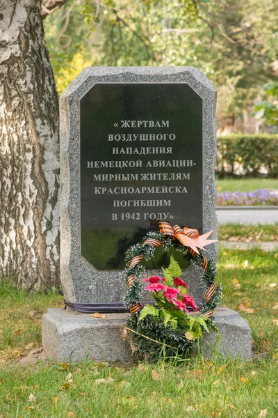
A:
[[[40,0],[0,0],[0,277],[59,283],[58,95]]]

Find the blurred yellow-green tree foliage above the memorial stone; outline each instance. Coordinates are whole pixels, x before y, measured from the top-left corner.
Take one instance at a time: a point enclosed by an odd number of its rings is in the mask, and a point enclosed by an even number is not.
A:
[[[88,65],[194,65],[218,86],[218,126],[234,129],[277,77],[278,9],[275,0],[205,3],[68,0],[45,22],[58,91]]]

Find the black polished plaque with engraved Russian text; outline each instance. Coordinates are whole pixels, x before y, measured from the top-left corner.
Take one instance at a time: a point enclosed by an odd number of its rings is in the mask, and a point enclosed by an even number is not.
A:
[[[122,268],[126,249],[161,220],[202,232],[202,99],[193,88],[95,84],[80,107],[81,254],[97,269]]]

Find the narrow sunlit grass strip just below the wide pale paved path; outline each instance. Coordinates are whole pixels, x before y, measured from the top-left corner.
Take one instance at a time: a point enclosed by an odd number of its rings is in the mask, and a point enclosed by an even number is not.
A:
[[[218,240],[244,242],[278,241],[278,222],[274,225],[219,224]]]

